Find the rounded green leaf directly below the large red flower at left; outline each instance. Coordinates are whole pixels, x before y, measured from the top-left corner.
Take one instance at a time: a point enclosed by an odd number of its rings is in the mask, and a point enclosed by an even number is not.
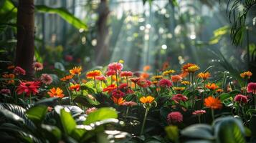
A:
[[[29,110],[27,110],[27,118],[32,120],[34,123],[40,123],[45,117],[45,114],[47,112],[47,106],[44,105],[38,105],[36,107],[32,107]]]

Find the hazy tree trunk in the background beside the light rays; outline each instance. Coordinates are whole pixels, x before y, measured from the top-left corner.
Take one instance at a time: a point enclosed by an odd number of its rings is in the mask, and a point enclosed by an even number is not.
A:
[[[95,48],[96,64],[105,64],[104,62],[108,60],[108,14],[110,13],[108,9],[107,0],[100,0],[100,5],[98,7],[98,36],[97,45]]]

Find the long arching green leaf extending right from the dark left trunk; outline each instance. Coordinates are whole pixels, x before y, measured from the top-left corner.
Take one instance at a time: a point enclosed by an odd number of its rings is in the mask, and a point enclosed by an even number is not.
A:
[[[37,5],[36,9],[38,12],[49,13],[49,14],[58,14],[65,21],[72,24],[77,29],[87,29],[87,25],[84,24],[80,19],[77,19],[74,15],[72,15],[67,9],[64,8],[51,8],[44,5]]]

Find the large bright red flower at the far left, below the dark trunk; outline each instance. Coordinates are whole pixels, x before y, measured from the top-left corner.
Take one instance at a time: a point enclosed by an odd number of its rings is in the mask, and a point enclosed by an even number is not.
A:
[[[39,93],[39,84],[40,82],[20,82],[19,86],[16,89],[17,94],[26,93],[27,96],[30,94]]]

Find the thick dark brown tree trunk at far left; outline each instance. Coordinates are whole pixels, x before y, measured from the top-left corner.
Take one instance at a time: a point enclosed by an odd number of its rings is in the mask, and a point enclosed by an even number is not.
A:
[[[17,15],[16,66],[26,70],[27,78],[34,77],[34,0],[19,0]]]

